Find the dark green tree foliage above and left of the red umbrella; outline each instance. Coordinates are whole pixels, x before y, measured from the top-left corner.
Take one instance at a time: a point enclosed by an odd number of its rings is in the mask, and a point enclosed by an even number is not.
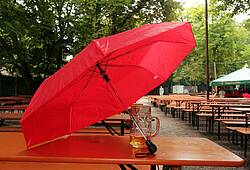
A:
[[[0,67],[30,88],[65,64],[92,39],[176,19],[174,0],[0,1]],[[70,49],[70,50],[69,50]]]

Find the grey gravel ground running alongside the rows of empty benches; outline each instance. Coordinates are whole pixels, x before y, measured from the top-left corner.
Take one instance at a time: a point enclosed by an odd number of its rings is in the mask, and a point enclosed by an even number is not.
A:
[[[151,105],[150,102],[147,100],[147,97],[141,98],[138,102]],[[248,149],[249,151],[247,153],[248,159],[244,158],[244,151],[240,147],[240,145],[235,145],[228,141],[227,131],[225,130],[224,127],[221,127],[221,131],[222,131],[221,139],[218,139],[216,134],[212,135],[206,132],[205,122],[200,122],[200,129],[197,130],[197,128],[193,127],[190,123],[188,123],[188,121],[183,121],[180,118],[172,118],[170,114],[165,115],[164,112],[162,112],[158,107],[153,107],[153,106],[152,106],[152,115],[160,118],[161,128],[158,134],[159,136],[208,138],[246,160],[245,166],[239,167],[239,168],[186,166],[182,168],[183,170],[217,170],[217,169],[218,170],[250,170],[250,150]],[[215,126],[214,131],[216,131],[216,127],[217,126]]]

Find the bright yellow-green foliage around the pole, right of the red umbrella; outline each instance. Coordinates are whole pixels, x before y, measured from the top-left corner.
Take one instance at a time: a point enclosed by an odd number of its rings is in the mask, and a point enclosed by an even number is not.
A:
[[[182,20],[192,23],[196,48],[174,73],[173,81],[179,84],[205,84],[205,12],[204,6],[183,11]],[[228,11],[218,11],[217,1],[209,4],[209,75],[210,80],[244,66],[250,66],[250,24],[236,23]],[[214,65],[215,64],[215,65]],[[214,69],[215,67],[216,69]]]

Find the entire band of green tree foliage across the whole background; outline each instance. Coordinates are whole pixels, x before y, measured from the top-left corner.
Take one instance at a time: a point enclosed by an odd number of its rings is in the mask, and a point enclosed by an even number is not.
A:
[[[232,15],[249,11],[249,0],[211,0],[209,4],[210,75],[249,63],[250,20]],[[204,7],[183,10],[175,0],[9,0],[0,1],[0,69],[21,76],[31,89],[61,68],[96,38],[146,23],[190,21],[197,47],[173,75],[175,83],[205,79]],[[249,63],[250,65],[250,63]]]

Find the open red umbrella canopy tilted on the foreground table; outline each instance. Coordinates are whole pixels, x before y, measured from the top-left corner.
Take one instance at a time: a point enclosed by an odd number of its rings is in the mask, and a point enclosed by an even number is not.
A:
[[[194,47],[187,22],[148,24],[93,40],[36,91],[21,120],[27,146],[126,110],[166,81]]]

